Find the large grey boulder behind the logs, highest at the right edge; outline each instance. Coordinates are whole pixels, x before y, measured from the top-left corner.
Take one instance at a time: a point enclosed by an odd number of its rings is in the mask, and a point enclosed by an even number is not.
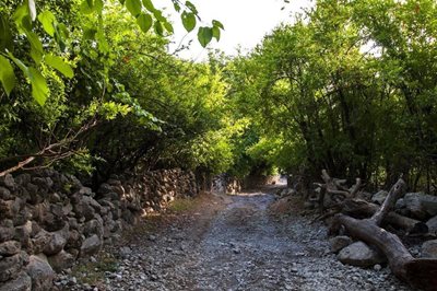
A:
[[[437,196],[408,193],[404,202],[405,208],[416,219],[424,220],[437,216]]]

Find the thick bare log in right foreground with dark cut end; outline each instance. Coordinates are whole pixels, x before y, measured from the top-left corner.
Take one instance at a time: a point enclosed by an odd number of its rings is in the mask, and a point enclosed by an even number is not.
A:
[[[436,290],[437,259],[413,258],[395,234],[379,228],[373,219],[357,220],[336,214],[335,220],[353,237],[377,246],[387,256],[390,269],[399,279],[414,288]]]

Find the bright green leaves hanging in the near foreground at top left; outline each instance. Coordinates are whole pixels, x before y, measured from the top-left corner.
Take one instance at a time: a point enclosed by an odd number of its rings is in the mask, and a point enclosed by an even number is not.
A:
[[[154,32],[160,36],[164,36],[165,31],[169,34],[174,32],[173,25],[167,18],[163,15],[163,12],[153,5],[152,1],[126,0],[120,2],[121,5],[126,7],[132,16],[135,18],[137,24],[143,33],[147,33],[152,25]],[[46,3],[49,3],[48,7],[51,5],[52,10],[46,7]],[[54,13],[54,10],[58,8],[56,4],[52,4],[49,0],[40,1],[38,4],[43,7],[43,11],[39,13],[37,12],[34,0],[25,0],[17,7],[12,4],[2,4],[0,7],[0,56],[3,55],[3,59],[0,61],[5,68],[5,72],[2,73],[0,81],[4,91],[10,94],[15,86],[15,82],[12,82],[15,77],[14,71],[11,70],[11,62],[4,59],[4,57],[10,58],[31,81],[33,86],[32,95],[35,101],[44,105],[49,96],[49,90],[43,88],[45,84],[43,80],[45,77],[42,74],[43,59],[46,65],[51,66],[67,78],[73,78],[73,71],[68,65],[69,56],[68,54],[62,55],[62,53],[67,53],[71,49],[71,47],[68,47],[68,43],[71,40],[70,32],[72,31],[83,31],[83,40],[93,39],[96,42],[101,53],[108,54],[110,47],[108,46],[104,32],[104,11],[110,10],[117,4],[114,1],[104,2],[103,0],[71,1],[70,8],[78,13],[78,22],[70,23],[69,26],[57,21],[57,16]],[[181,11],[177,0],[174,0],[174,7],[177,12]],[[185,7],[186,9],[181,12],[182,24],[188,32],[191,32],[197,25],[196,19],[199,18],[198,11],[189,1],[186,2]],[[12,18],[8,19],[3,11],[12,13]],[[64,18],[66,15],[62,16]],[[36,19],[38,22],[36,22]],[[82,21],[82,19],[88,19],[88,21]],[[90,26],[90,23],[97,25]],[[16,28],[16,31],[14,28]],[[223,25],[217,25],[216,21],[213,22],[211,27],[200,27],[199,34],[204,35],[199,38],[202,46],[206,46],[211,42],[212,37],[209,37],[209,35],[212,35],[212,31],[214,31],[214,37],[218,40],[220,30],[223,30]],[[48,36],[44,35],[42,31]],[[205,32],[208,33],[205,34]],[[12,50],[14,45],[16,45],[14,44],[14,38],[21,35],[24,35],[27,39],[29,49],[23,57],[13,56]],[[58,44],[59,50],[54,49],[52,46],[48,46],[48,48],[46,46],[46,48],[44,48],[43,43],[47,45],[51,43],[51,40]],[[31,57],[34,63],[29,63],[27,57]],[[17,61],[20,61],[20,65]],[[32,70],[25,69],[23,66],[31,67]],[[36,73],[36,71],[38,71],[38,73]]]

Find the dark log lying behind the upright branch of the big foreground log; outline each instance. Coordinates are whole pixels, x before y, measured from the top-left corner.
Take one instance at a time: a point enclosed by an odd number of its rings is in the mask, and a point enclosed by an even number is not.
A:
[[[378,206],[362,199],[347,199],[344,201],[341,212],[353,218],[370,218],[378,211]],[[389,212],[382,223],[389,223],[406,231],[409,234],[428,233],[428,226],[422,221]]]

